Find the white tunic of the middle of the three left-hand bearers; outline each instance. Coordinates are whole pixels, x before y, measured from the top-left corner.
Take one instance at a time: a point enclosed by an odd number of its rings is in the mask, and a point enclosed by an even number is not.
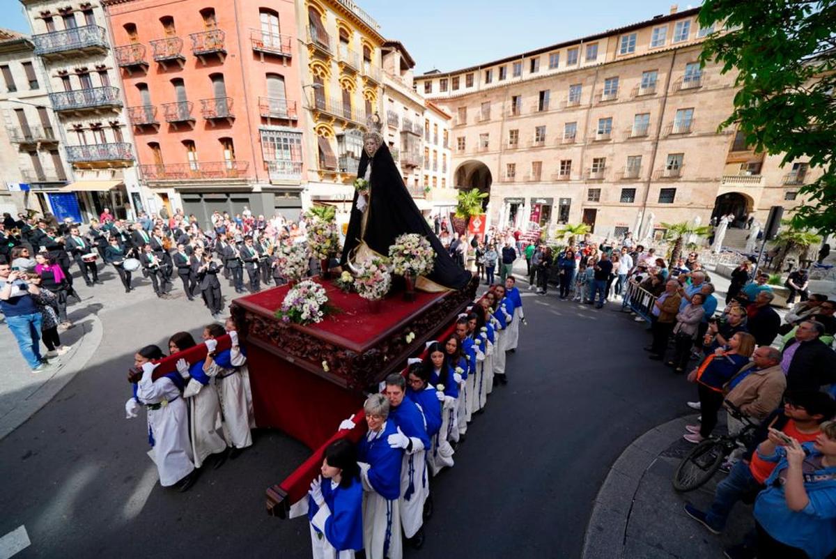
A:
[[[203,461],[211,454],[227,449],[227,441],[222,434],[221,403],[217,391],[210,386],[203,386],[195,379],[189,381],[184,395],[189,404],[189,430],[191,433],[191,452],[195,467],[200,468]]]

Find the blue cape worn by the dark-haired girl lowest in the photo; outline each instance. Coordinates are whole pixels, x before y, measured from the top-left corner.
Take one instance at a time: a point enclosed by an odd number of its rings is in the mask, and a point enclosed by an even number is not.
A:
[[[331,480],[322,480],[322,496],[331,515],[325,521],[325,539],[337,551],[363,549],[363,484],[352,480],[349,487],[331,489]],[[308,521],[313,524],[319,510],[308,495]],[[314,526],[314,530],[319,528]]]

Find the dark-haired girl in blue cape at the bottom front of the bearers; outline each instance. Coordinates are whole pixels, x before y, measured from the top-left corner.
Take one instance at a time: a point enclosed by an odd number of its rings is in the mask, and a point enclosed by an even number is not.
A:
[[[308,493],[314,559],[353,559],[363,549],[363,484],[354,444],[345,438],[329,444],[321,471]]]

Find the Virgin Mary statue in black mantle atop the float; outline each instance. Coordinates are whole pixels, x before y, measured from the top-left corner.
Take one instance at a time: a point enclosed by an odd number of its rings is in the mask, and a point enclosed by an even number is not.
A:
[[[418,233],[436,251],[436,264],[415,286],[425,291],[463,288],[472,274],[456,264],[415,206],[380,134],[377,115],[372,117],[369,131],[363,135],[363,146],[357,177],[369,182],[369,190],[366,194],[354,191],[340,264],[350,269],[375,255],[386,256],[398,235]]]

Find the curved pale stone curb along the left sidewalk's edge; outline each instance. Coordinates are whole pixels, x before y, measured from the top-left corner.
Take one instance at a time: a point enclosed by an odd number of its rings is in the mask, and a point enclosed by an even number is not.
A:
[[[73,351],[67,356],[69,359],[63,367],[59,367],[51,376],[45,377],[43,383],[31,392],[19,406],[13,408],[3,418],[0,418],[0,440],[6,438],[16,428],[23,425],[40,408],[52,400],[75,375],[87,366],[90,357],[94,356],[104,335],[104,327],[97,315],[90,315],[89,325],[79,325],[84,328],[84,334],[75,344]]]

